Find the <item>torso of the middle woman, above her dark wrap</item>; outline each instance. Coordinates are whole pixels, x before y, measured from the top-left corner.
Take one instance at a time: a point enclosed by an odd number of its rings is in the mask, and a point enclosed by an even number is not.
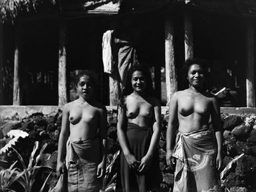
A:
[[[155,98],[148,97],[146,100],[136,94],[130,94],[126,98],[126,117],[128,122],[138,126],[150,127],[153,124]]]

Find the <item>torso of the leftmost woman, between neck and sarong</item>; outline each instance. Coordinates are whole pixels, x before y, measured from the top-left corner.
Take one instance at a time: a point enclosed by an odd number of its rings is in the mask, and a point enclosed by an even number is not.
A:
[[[90,140],[96,138],[100,121],[99,104],[89,104],[74,100],[70,102],[68,121],[70,122],[70,140]]]

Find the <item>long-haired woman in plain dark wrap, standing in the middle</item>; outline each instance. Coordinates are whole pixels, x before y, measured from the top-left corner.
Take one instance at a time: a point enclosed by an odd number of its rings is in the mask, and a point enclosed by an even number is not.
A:
[[[129,71],[124,98],[118,110],[123,192],[160,190],[157,149],[160,118],[160,102],[154,97],[150,74],[135,64]]]

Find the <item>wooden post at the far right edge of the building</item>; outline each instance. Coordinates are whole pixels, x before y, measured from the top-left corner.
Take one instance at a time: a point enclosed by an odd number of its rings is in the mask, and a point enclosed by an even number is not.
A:
[[[255,107],[255,88],[254,88],[254,25],[252,21],[246,22],[246,104],[247,107]]]

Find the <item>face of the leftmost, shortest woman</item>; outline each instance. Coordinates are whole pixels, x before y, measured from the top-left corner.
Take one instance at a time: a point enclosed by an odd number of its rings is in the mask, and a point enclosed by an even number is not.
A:
[[[76,84],[76,89],[78,94],[83,98],[91,98],[94,93],[94,83],[90,79],[90,76],[81,76],[79,82]]]

